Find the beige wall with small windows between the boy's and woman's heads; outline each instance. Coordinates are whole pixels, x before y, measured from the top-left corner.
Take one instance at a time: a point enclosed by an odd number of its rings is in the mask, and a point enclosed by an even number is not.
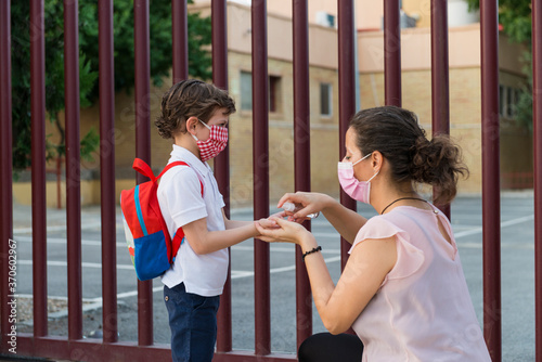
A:
[[[230,93],[237,101],[237,113],[230,120],[230,185],[232,207],[251,205],[253,201],[253,113],[241,109],[240,74],[249,72],[250,56],[243,53],[229,55]],[[292,64],[281,60],[269,61],[269,73],[280,76],[282,91],[280,112],[269,115],[269,170],[270,198],[276,202],[284,193],[294,190],[294,94]],[[315,191],[338,195],[338,183],[334,170],[339,155],[338,146],[338,93],[337,75],[334,69],[310,68],[310,87],[319,89],[320,82],[331,82],[334,91],[335,116],[320,116],[318,92],[311,92],[311,182]]]

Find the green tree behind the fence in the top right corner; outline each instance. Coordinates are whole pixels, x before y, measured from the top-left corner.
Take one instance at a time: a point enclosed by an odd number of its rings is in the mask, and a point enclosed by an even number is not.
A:
[[[479,0],[467,1],[472,10],[479,9]],[[532,131],[531,0],[500,0],[499,23],[503,26],[503,31],[512,41],[522,43],[527,47],[527,51],[524,54],[524,73],[527,76],[527,83],[519,93],[519,100],[516,105],[516,117],[520,125]]]

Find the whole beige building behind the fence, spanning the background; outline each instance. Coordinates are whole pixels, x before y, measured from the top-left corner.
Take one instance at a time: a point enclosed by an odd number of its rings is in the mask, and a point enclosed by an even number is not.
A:
[[[210,1],[195,1],[191,11],[210,14]],[[384,105],[384,35],[382,7],[374,1],[356,1],[357,61],[359,70],[359,107]],[[431,70],[429,1],[402,1],[402,16],[408,27],[401,31],[402,105],[415,112],[420,122],[431,132]],[[481,121],[480,121],[480,26],[477,15],[466,12],[462,0],[449,1],[449,63],[451,137],[461,145],[470,170],[461,180],[460,194],[481,191]],[[309,1],[310,63],[310,134],[311,186],[313,191],[338,197],[339,184],[335,172],[339,160],[338,134],[338,43],[335,0]],[[466,21],[465,21],[466,20]],[[414,22],[414,23],[413,23]],[[465,24],[466,23],[466,24]],[[268,69],[269,69],[269,169],[271,204],[285,192],[294,190],[294,94],[292,1],[268,1]],[[237,113],[230,122],[231,206],[253,203],[253,112],[251,112],[251,36],[249,1],[228,2],[228,66],[229,91],[236,102]],[[514,102],[525,85],[521,72],[522,49],[500,39],[501,82],[501,168],[503,188],[516,188],[515,174],[532,174],[532,141],[529,132],[514,121]],[[171,85],[166,79],[162,88],[150,94],[151,120],[160,106],[162,94]],[[61,116],[62,117],[62,116]],[[98,105],[81,111],[81,134],[99,127]],[[131,164],[134,158],[133,94],[116,95],[116,165],[117,197],[120,190],[134,184]],[[152,126],[153,130],[154,127]],[[48,130],[54,133],[54,130]],[[152,132],[152,165],[164,167],[171,143]],[[95,157],[98,160],[99,157]],[[54,165],[52,165],[54,166]],[[99,165],[85,163],[81,181],[83,204],[99,204]],[[56,181],[48,183],[48,204],[56,206]],[[528,186],[528,184],[527,184]],[[15,184],[17,202],[30,204],[29,182]],[[65,186],[60,188],[64,193]],[[61,195],[61,201],[64,196]],[[62,203],[62,202],[61,202]]]

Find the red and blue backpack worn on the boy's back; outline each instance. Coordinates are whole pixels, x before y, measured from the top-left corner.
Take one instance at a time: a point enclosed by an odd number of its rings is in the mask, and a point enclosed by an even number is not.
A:
[[[158,179],[170,168],[180,165],[189,166],[184,161],[171,163],[156,178],[144,160],[136,158],[133,169],[150,178],[151,181],[120,193],[126,242],[140,281],[147,281],[164,274],[171,267],[184,238],[184,232],[182,228],[179,228],[171,240],[157,197]],[[199,183],[203,196],[203,183],[202,181]]]

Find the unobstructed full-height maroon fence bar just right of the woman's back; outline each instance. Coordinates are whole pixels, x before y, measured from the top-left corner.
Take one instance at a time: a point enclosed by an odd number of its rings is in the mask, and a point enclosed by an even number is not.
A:
[[[499,178],[499,15],[496,0],[480,1],[483,336],[501,361],[501,195]]]

